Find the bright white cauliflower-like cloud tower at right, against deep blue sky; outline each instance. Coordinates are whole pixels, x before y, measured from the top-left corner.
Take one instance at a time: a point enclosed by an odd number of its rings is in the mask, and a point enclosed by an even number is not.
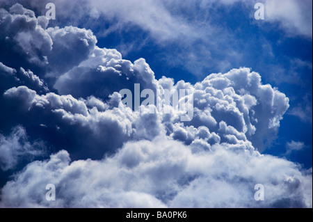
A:
[[[175,88],[194,89],[194,116],[186,125],[205,126],[222,142],[252,141],[261,152],[275,138],[289,108],[289,99],[283,93],[263,85],[260,75],[248,68],[210,74],[194,86],[180,81]]]

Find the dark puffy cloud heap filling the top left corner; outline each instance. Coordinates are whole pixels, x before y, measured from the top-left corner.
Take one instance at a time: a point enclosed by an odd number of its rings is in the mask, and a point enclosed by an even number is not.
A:
[[[1,8],[0,21],[0,45],[5,52],[1,62],[15,69],[35,70],[49,84],[86,60],[97,43],[90,30],[74,26],[47,29],[47,17],[35,17],[19,3],[8,11]]]

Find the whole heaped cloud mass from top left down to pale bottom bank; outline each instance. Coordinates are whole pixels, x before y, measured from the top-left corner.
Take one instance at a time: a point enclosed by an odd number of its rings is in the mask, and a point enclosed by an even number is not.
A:
[[[50,159],[30,162],[1,189],[1,207],[312,207],[312,171],[259,154],[289,99],[257,72],[175,84],[155,79],[143,58],[97,47],[90,30],[47,29],[19,4],[0,15],[1,170],[42,154],[29,140],[51,147]],[[192,90],[193,119],[129,109],[118,92],[134,84]],[[47,184],[56,184],[55,202],[45,200]],[[264,184],[264,202],[254,200],[255,184]]]

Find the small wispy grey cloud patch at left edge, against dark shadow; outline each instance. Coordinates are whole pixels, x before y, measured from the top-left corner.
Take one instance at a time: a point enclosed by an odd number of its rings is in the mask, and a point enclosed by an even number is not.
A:
[[[0,168],[2,171],[13,170],[19,161],[42,156],[45,153],[45,144],[42,141],[31,143],[23,127],[13,128],[8,136],[0,134]]]

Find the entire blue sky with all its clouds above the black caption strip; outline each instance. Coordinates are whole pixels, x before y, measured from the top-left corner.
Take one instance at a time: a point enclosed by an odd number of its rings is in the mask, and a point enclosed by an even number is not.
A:
[[[0,8],[0,207],[312,207],[311,0]],[[134,84],[193,89],[193,120]]]

